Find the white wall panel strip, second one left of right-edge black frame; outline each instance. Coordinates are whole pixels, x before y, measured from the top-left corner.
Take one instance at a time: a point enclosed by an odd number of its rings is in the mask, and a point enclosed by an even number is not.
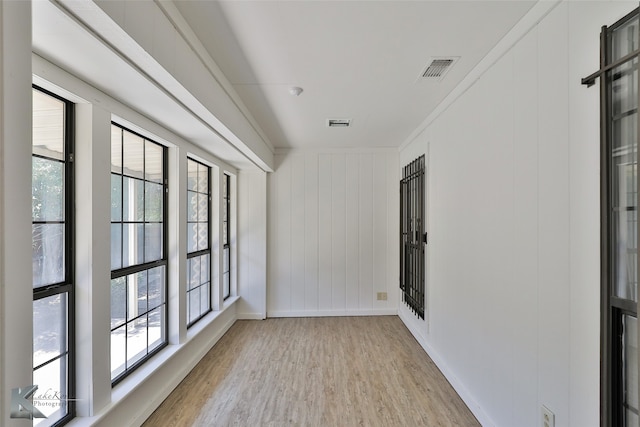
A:
[[[558,78],[568,75],[567,8],[558,6],[538,31],[539,393],[550,408],[569,402],[569,82]],[[567,424],[568,412],[557,412],[556,425]]]

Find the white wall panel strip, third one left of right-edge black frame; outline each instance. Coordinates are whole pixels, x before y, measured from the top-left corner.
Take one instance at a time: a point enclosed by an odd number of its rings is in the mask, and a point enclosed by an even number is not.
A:
[[[513,306],[509,340],[513,343],[514,384],[530,387],[513,393],[513,424],[532,425],[538,410],[538,84],[537,29],[533,29],[513,52],[514,62],[514,199],[516,218],[512,300],[528,304]]]

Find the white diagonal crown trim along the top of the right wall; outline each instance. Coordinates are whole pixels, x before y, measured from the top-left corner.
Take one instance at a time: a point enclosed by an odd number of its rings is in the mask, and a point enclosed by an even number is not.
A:
[[[422,132],[429,127],[442,113],[453,105],[471,86],[478,81],[500,58],[502,58],[516,43],[526,36],[532,28],[542,21],[557,5],[564,0],[539,0],[534,4],[529,12],[518,21],[516,25],[482,58],[469,74],[451,91],[449,95],[427,116],[427,118],[409,135],[409,137],[398,147],[402,151]]]

